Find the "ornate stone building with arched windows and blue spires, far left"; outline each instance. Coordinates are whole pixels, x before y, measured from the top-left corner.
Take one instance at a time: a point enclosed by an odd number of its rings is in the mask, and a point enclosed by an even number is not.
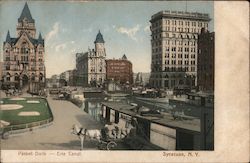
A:
[[[16,32],[17,37],[13,38],[8,31],[3,43],[3,87],[38,92],[45,86],[44,39],[41,33],[36,38],[35,20],[27,3],[18,18]]]

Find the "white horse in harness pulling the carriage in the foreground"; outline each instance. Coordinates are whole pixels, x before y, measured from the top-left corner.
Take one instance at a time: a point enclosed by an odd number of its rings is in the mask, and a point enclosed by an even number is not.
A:
[[[86,137],[92,139],[95,139],[98,141],[98,143],[101,142],[101,130],[98,129],[84,129],[78,127],[76,124],[73,125],[71,133],[74,135],[77,135],[78,138],[81,141],[81,150],[83,150],[83,142],[85,141]]]

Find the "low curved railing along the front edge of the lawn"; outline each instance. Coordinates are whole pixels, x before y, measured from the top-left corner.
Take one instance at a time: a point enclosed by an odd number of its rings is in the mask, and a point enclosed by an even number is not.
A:
[[[37,121],[37,122],[7,126],[7,127],[2,128],[2,131],[6,132],[6,131],[13,131],[13,130],[20,130],[20,129],[27,129],[27,128],[32,128],[32,127],[37,127],[37,126],[41,126],[41,125],[44,125],[44,124],[48,124],[48,123],[50,123],[52,121],[53,121],[53,117],[51,117],[49,119],[46,119],[46,120]]]

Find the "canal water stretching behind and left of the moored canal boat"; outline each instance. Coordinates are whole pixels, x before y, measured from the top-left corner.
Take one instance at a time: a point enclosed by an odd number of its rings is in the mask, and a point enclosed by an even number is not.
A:
[[[155,103],[150,101],[142,101],[131,97],[111,97],[111,98],[87,98],[83,102],[81,109],[91,115],[96,121],[100,121],[101,114],[101,102],[104,101],[117,101],[122,103],[135,103],[138,106],[145,106],[150,109],[156,109],[161,112],[183,112],[185,115],[199,118],[201,115],[201,109],[197,106],[184,105],[184,104],[169,104],[169,103]]]

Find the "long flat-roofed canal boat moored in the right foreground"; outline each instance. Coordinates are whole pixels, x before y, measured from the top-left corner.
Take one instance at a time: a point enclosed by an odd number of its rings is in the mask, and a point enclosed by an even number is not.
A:
[[[152,149],[155,149],[152,146],[157,146],[158,149],[165,150],[202,148],[200,119],[175,118],[169,113],[165,113],[163,117],[145,116],[134,111],[137,107],[125,103],[103,102],[101,116],[106,122],[123,125],[123,127],[135,123],[133,125],[136,126],[137,137],[145,140],[141,144],[141,149],[148,149],[149,146]]]

